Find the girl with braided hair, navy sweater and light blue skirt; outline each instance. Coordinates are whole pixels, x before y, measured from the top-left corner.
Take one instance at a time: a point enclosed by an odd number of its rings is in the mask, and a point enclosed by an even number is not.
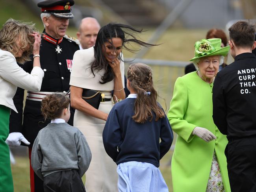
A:
[[[127,88],[131,94],[114,105],[103,130],[105,150],[118,165],[119,192],[168,192],[158,167],[171,147],[173,131],[157,102],[150,67],[130,65]]]

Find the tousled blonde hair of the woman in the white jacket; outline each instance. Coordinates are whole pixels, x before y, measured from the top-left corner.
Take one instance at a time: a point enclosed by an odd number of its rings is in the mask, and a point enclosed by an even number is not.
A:
[[[33,31],[36,31],[35,24],[9,18],[0,31],[0,49],[13,55],[16,55],[20,48],[24,49],[22,56],[16,57],[16,61],[20,64],[30,61],[34,42],[30,33],[33,33]],[[16,43],[18,40],[20,40],[20,45]]]

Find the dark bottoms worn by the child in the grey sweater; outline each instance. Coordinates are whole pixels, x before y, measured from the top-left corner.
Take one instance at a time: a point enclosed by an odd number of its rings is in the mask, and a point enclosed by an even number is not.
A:
[[[77,170],[55,172],[44,177],[45,192],[85,192]]]

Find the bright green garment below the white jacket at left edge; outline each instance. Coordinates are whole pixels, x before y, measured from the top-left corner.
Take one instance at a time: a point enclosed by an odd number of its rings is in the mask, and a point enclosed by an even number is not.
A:
[[[0,105],[0,192],[13,192],[10,151],[6,144],[9,135],[10,108]]]

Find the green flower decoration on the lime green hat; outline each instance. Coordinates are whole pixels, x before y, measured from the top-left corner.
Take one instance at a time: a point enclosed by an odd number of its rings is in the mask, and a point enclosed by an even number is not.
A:
[[[211,42],[207,39],[202,39],[195,43],[195,56],[200,57],[203,55],[208,55],[211,52],[214,52],[215,48],[211,46]]]

